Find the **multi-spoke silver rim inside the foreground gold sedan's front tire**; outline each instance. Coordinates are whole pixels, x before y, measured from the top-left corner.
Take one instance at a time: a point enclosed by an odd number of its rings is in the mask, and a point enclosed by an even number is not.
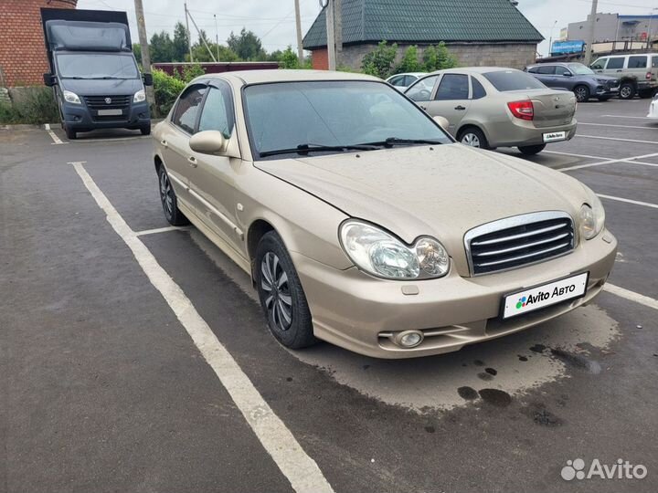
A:
[[[279,257],[267,252],[260,261],[260,288],[265,292],[268,319],[277,330],[289,330],[292,325],[292,295],[288,274]]]

